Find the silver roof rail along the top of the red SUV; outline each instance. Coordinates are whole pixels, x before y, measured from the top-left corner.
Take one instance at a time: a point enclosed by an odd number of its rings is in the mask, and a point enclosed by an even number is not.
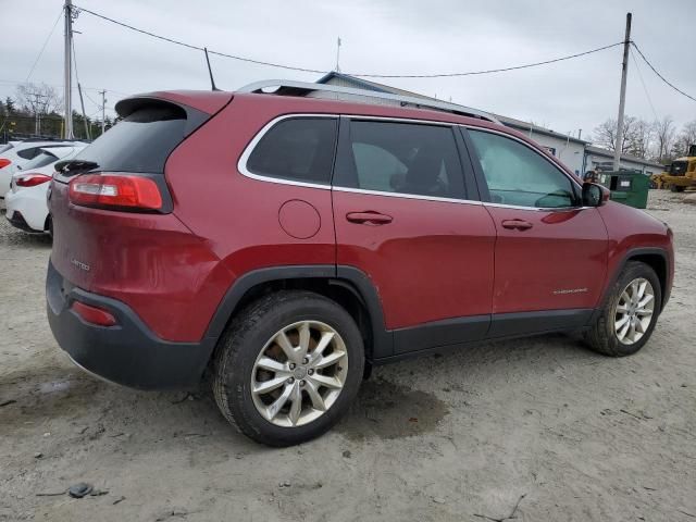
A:
[[[351,96],[361,96],[361,97],[368,97],[368,98],[377,98],[382,100],[393,100],[393,101],[398,101],[401,104],[401,107],[413,105],[417,109],[421,109],[421,108],[435,109],[437,111],[449,112],[452,114],[458,114],[460,116],[477,117],[481,120],[486,120],[488,122],[500,124],[500,121],[493,114],[489,114],[484,111],[480,111],[477,109],[471,109],[469,107],[458,105],[456,103],[447,103],[445,101],[430,100],[427,98],[418,98],[415,96],[393,95],[390,92],[378,92],[378,91],[366,90],[366,89],[355,89],[352,87],[339,87],[336,85],[295,82],[291,79],[266,79],[262,82],[256,82],[253,84],[245,85],[244,87],[237,89],[237,92],[273,94],[273,92],[264,92],[263,90],[271,87],[277,87],[276,94],[286,95],[286,96],[301,96],[302,94],[306,94],[306,92],[322,91],[322,92],[335,92],[337,95],[351,95]]]

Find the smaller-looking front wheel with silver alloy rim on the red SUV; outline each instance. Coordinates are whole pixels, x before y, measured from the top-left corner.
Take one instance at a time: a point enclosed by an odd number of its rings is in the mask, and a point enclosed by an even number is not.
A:
[[[589,346],[606,356],[635,353],[650,338],[661,302],[655,271],[645,263],[629,262],[586,333]]]

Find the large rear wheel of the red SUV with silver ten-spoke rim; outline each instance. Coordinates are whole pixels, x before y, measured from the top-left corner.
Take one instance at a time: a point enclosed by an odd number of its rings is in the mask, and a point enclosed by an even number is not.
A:
[[[301,346],[308,346],[306,358]],[[320,368],[330,360],[337,362]],[[284,290],[233,319],[215,350],[213,395],[239,432],[268,446],[291,446],[322,435],[345,414],[363,369],[362,335],[345,309],[318,294]]]

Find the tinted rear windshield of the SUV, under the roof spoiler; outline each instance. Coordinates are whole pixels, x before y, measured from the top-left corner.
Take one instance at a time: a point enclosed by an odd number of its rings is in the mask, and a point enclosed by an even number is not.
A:
[[[100,171],[163,173],[170,153],[186,136],[186,112],[174,104],[136,109],[75,157]]]

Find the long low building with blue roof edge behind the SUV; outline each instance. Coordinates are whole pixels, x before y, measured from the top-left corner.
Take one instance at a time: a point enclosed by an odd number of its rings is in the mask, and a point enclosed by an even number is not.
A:
[[[433,100],[428,96],[419,95],[418,92],[411,92],[403,89],[397,89],[376,82],[370,82],[362,78],[357,78],[348,74],[338,73],[332,71],[331,73],[322,76],[316,80],[318,84],[335,85],[339,87],[351,87],[355,89],[372,90],[376,92],[389,92],[393,95],[410,96],[413,98],[422,98],[425,100]],[[312,92],[312,97],[316,98],[335,98],[333,92]],[[380,104],[393,104],[399,105],[400,103],[395,100],[384,100],[378,98],[370,98],[369,96],[358,95],[341,95],[341,99],[348,99],[352,101],[364,101],[370,103]],[[604,169],[609,161],[609,167],[611,167],[611,161],[613,159],[613,152],[610,150],[593,147],[589,141],[585,141],[580,138],[575,138],[570,135],[557,133],[550,128],[545,128],[533,123],[523,122],[513,117],[502,116],[500,114],[494,114],[504,125],[507,125],[515,130],[525,134],[531,139],[535,140],[542,147],[545,147],[551,154],[562,161],[569,169],[575,172],[577,175],[595,170],[597,167]],[[631,156],[621,157],[621,169],[637,170],[645,174],[655,174],[661,172],[661,165],[652,163]]]

